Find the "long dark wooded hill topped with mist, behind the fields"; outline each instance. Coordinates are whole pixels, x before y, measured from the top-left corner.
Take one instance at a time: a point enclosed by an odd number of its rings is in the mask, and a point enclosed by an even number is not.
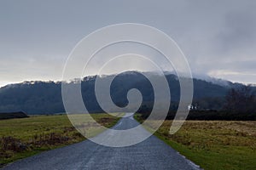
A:
[[[152,72],[147,74],[152,78],[160,77]],[[120,107],[127,105],[126,95],[131,88],[137,88],[143,95],[143,104],[141,106],[153,104],[153,87],[142,73],[126,71],[116,77],[115,75],[109,75],[100,78],[103,80],[111,77],[114,77],[114,79],[111,84],[110,94],[115,105]],[[177,105],[180,94],[177,76],[172,73],[166,73],[166,80],[170,87],[172,104]],[[193,103],[199,105],[201,109],[221,109],[224,104],[224,96],[230,88],[243,86],[240,83],[228,81],[225,84],[207,82],[206,80],[196,78],[193,81]],[[102,112],[102,108],[96,100],[95,82],[96,76],[84,77],[82,80],[81,89],[84,105],[90,112]],[[11,111],[24,111],[28,114],[65,112],[61,98],[61,82],[22,82],[0,88],[0,112]]]

